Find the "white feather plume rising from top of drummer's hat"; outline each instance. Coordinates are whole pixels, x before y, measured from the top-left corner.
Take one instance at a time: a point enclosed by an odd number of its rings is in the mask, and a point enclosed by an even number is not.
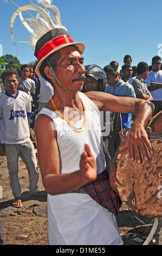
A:
[[[46,2],[46,1],[44,1],[44,2]],[[50,2],[50,1],[48,1],[48,2]],[[48,9],[53,10],[53,12],[55,14],[54,20],[51,19]],[[21,13],[22,13],[22,11],[26,11],[26,13],[28,13],[27,10],[37,11],[36,17],[34,17],[33,15],[30,15],[30,16],[32,16],[32,18],[24,20]],[[66,29],[61,24],[59,9],[57,9],[57,7],[55,7],[54,5],[48,4],[48,5],[44,6],[43,8],[38,7],[35,4],[23,5],[22,7],[19,7],[14,12],[14,14],[11,17],[11,21],[10,21],[10,33],[11,33],[11,38],[12,38],[12,41],[14,42],[14,44],[15,44],[15,41],[14,41],[12,29],[13,29],[14,21],[15,21],[17,15],[20,16],[20,19],[22,21],[21,24],[24,25],[25,28],[27,28],[30,33],[29,41],[20,41],[20,42],[28,42],[28,44],[31,45],[33,50],[35,50],[35,45],[36,45],[37,40],[40,39],[42,35],[49,32],[51,29],[55,29],[55,28]],[[40,15],[42,15],[42,17],[40,17]],[[54,21],[55,21],[55,23],[54,23]],[[33,27],[33,28],[31,28],[31,27]],[[15,46],[16,46],[16,44],[15,44]]]

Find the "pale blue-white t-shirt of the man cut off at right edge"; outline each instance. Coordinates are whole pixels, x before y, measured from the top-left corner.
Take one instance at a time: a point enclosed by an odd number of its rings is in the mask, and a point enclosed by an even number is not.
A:
[[[147,86],[150,86],[150,83],[162,83],[162,70],[159,70],[157,72],[151,71],[148,73],[147,79],[145,80]],[[153,97],[153,100],[162,100],[162,89],[159,88],[157,90],[152,90],[151,95]]]

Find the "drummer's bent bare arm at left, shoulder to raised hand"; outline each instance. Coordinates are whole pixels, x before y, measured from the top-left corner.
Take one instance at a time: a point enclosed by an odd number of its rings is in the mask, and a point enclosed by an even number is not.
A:
[[[95,180],[96,163],[95,157],[86,147],[81,156],[80,169],[73,173],[60,174],[57,132],[52,129],[52,122],[47,115],[38,115],[35,121],[35,135],[43,185],[47,193],[55,195],[68,193]],[[46,130],[46,139],[42,136],[42,130]]]

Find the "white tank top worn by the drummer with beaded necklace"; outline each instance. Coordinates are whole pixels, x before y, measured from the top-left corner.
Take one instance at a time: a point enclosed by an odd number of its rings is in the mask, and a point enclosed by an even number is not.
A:
[[[42,108],[39,114],[46,114],[55,123],[57,130],[57,144],[60,151],[60,173],[72,173],[79,170],[80,156],[87,143],[95,156],[97,173],[101,173],[105,167],[105,155],[103,153],[103,140],[100,125],[100,112],[98,107],[83,93],[79,92],[86,109],[86,125],[83,131],[76,132],[64,121],[57,112]],[[73,125],[81,127],[83,118]]]

